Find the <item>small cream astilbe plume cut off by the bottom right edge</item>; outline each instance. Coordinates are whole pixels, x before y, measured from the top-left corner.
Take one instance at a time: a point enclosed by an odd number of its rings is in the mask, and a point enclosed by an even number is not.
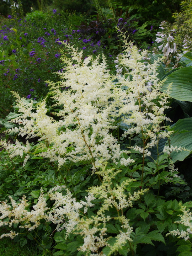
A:
[[[181,212],[183,214],[179,214],[180,220],[176,221],[175,223],[180,223],[184,226],[186,226],[185,230],[172,230],[170,231],[166,236],[168,235],[174,235],[178,238],[184,238],[185,240],[190,239],[189,234],[192,234],[192,212],[190,212],[190,209],[186,209],[186,206],[182,206],[180,203]]]

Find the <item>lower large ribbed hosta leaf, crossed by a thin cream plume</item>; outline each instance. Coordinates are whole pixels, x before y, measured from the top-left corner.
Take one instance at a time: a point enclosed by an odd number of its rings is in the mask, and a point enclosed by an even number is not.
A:
[[[179,119],[172,129],[175,133],[170,138],[171,146],[182,147],[189,151],[172,152],[171,158],[173,162],[183,161],[192,151],[192,117]]]

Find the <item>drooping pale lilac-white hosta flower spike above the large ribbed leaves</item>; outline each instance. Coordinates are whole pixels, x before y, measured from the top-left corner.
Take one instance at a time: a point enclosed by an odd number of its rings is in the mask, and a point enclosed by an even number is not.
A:
[[[166,57],[166,66],[168,66],[171,62],[171,58],[175,57],[175,67],[177,66],[178,61],[181,58],[181,55],[177,52],[177,46],[174,42],[174,37],[172,36],[175,29],[168,29],[168,22],[162,21],[159,27],[162,31],[157,32],[156,42],[161,43],[158,46],[159,50],[163,53],[164,57]]]

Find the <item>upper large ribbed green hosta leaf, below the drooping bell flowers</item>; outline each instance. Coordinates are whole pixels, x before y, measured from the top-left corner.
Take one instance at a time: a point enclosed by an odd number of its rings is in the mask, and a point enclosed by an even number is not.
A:
[[[192,101],[192,66],[181,68],[163,80],[162,92],[172,83],[170,97],[180,101]]]

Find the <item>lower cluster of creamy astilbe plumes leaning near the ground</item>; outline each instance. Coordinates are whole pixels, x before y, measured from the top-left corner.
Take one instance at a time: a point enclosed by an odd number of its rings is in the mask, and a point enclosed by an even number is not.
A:
[[[124,216],[124,211],[132,208],[134,201],[137,201],[148,190],[141,189],[131,193],[134,179],[127,179],[120,185],[114,185],[119,172],[121,170],[107,169],[104,164],[101,171],[98,171],[98,174],[103,177],[101,185],[91,187],[88,196],[79,202],[65,186],[56,186],[47,194],[43,194],[41,190],[38,202],[34,204],[31,211],[28,210],[29,204],[25,196],[22,197],[20,203],[10,196],[11,206],[7,201],[0,202],[0,226],[8,225],[11,228],[19,223],[20,227],[31,231],[40,225],[40,220],[51,221],[57,225],[58,231],[66,230],[66,237],[72,232],[81,235],[84,244],[79,247],[79,250],[85,252],[86,255],[91,253],[100,255],[100,249],[103,246],[108,246],[111,253],[118,251],[127,241],[132,241],[130,235],[133,228],[129,225],[129,219]],[[48,197],[54,201],[52,208],[47,207]],[[101,204],[97,213],[88,215],[88,217],[86,216],[87,210],[95,206],[91,201],[96,198]],[[113,208],[116,209],[116,214]],[[113,220],[118,220],[121,229],[112,238],[113,244],[111,244],[108,243],[111,237],[107,234],[106,225]],[[18,233],[10,231],[10,233],[1,235],[0,238],[4,236],[14,238],[16,235]]]

